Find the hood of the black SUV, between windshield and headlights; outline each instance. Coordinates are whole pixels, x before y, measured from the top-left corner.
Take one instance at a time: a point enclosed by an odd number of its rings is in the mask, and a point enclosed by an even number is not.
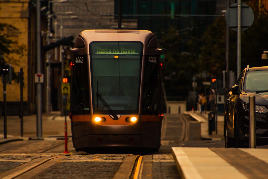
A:
[[[267,106],[268,105],[268,92],[265,93],[242,93],[240,94],[240,99],[241,101],[245,102],[245,103],[249,103],[249,96],[255,96],[255,104],[258,105],[264,105]]]

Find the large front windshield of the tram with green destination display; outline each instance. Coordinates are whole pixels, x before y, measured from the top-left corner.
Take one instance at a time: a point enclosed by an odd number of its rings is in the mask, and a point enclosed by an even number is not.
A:
[[[92,42],[90,44],[92,103],[95,114],[138,112],[141,42]],[[99,94],[109,106],[97,98]]]

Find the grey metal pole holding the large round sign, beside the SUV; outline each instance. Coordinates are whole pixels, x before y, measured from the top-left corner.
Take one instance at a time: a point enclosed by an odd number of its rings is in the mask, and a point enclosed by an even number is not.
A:
[[[237,0],[237,78],[241,72],[241,0]]]

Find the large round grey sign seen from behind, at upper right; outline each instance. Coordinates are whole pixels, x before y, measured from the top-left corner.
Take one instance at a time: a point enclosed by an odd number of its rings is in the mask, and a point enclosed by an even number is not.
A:
[[[250,6],[241,3],[241,30],[247,30],[254,21],[254,13]],[[237,31],[237,3],[233,3],[225,12],[226,24]]]

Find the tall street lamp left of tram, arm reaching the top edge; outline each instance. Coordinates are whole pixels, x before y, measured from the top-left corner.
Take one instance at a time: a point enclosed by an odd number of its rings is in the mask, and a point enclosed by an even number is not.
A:
[[[68,0],[53,0],[48,2],[48,16],[47,16],[47,38],[46,42],[47,45],[50,44],[50,38],[51,38],[51,32],[50,32],[50,18],[52,17],[52,14],[50,14],[50,3],[52,2],[59,2],[59,3],[65,3],[68,2]],[[46,52],[46,62],[48,63],[47,65],[47,84],[46,84],[46,111],[50,112],[51,110],[51,87],[50,87],[50,52],[47,50]]]

